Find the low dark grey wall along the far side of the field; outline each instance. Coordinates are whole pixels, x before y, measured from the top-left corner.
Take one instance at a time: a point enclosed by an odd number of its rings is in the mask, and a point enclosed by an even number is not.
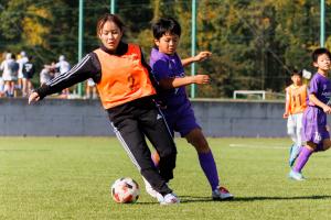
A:
[[[284,103],[194,100],[195,117],[207,136],[286,136]],[[0,135],[115,135],[98,100],[0,99]]]

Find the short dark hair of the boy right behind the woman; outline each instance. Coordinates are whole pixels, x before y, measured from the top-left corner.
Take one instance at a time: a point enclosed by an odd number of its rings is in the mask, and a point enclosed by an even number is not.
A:
[[[154,38],[161,38],[166,33],[181,36],[181,25],[172,18],[161,18],[152,25]]]

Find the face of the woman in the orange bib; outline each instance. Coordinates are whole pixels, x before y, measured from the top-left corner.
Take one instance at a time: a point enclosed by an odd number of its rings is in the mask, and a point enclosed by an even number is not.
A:
[[[99,38],[109,51],[115,51],[121,40],[122,32],[113,21],[107,21],[99,32]]]

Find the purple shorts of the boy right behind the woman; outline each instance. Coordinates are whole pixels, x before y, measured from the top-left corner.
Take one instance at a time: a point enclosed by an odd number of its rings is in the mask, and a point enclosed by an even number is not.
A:
[[[188,135],[193,129],[201,129],[196,123],[191,105],[185,108],[181,107],[178,110],[166,109],[163,112],[171,132],[179,132],[182,138]]]

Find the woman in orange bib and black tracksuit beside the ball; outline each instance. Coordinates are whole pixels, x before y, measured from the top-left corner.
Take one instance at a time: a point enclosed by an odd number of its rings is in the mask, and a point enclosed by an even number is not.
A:
[[[158,191],[161,205],[180,202],[167,183],[173,178],[177,148],[167,122],[158,109],[150,72],[138,45],[122,41],[124,23],[114,14],[97,22],[100,47],[87,54],[68,73],[36,89],[29,103],[93,78],[110,124],[140,174]],[[159,169],[153,166],[146,139],[160,152]]]

